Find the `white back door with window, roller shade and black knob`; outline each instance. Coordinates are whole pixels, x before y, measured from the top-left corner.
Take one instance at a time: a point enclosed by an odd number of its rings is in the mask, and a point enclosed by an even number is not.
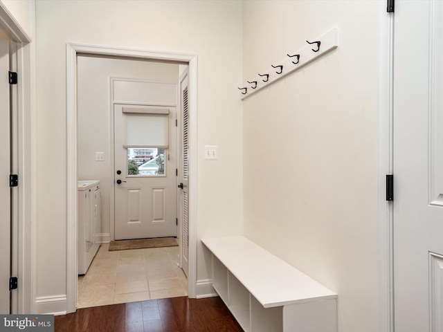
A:
[[[115,239],[177,237],[176,107],[114,104]]]

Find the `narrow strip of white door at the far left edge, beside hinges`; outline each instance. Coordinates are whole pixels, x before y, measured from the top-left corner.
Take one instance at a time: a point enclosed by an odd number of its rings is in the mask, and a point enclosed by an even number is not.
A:
[[[9,41],[0,39],[0,313],[10,312],[10,104]]]

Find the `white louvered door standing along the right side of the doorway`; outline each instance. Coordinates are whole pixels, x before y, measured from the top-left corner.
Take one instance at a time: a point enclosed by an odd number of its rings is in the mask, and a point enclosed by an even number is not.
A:
[[[188,73],[181,81],[181,174],[183,184],[180,191],[181,203],[181,268],[188,276],[189,263],[189,140],[188,140]]]

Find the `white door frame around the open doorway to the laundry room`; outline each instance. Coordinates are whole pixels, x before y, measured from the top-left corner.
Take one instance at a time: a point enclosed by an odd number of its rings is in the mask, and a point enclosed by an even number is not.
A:
[[[66,312],[77,306],[77,55],[129,57],[146,61],[168,61],[189,65],[190,86],[190,273],[189,297],[196,297],[197,285],[197,55],[153,52],[85,44],[66,45],[66,126],[67,126],[67,252]]]

